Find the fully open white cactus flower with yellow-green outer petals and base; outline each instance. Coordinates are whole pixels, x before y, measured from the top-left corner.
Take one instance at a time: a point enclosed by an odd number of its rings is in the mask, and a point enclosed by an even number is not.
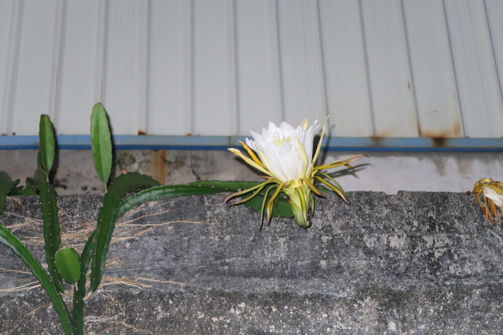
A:
[[[230,148],[229,150],[264,173],[265,176],[263,177],[267,181],[253,188],[234,193],[227,197],[225,201],[227,202],[234,197],[253,192],[242,200],[232,203],[231,206],[241,204],[257,196],[265,189],[261,227],[264,218],[264,209],[267,213],[268,223],[270,223],[272,211],[282,192],[288,197],[288,202],[292,207],[297,224],[303,228],[309,227],[311,221],[308,211],[311,210],[314,213],[314,198],[312,194],[324,197],[324,194],[318,191],[313,185],[315,180],[336,192],[349,204],[348,197],[341,186],[322,170],[332,169],[341,165],[346,165],[353,169],[349,163],[365,155],[360,154],[329,164],[314,165],[321,149],[325,125],[326,122],[323,125],[321,138],[314,156],[312,154],[314,134],[320,128],[320,125],[317,125],[317,121],[308,127],[307,119],[305,119],[297,128],[293,128],[286,122],[281,123],[279,127],[270,122],[268,129],[262,129],[262,135],[252,131],[253,140],[246,138],[246,144],[239,142],[251,158],[245,156],[238,149]],[[269,197],[271,192],[273,192],[272,196]]]

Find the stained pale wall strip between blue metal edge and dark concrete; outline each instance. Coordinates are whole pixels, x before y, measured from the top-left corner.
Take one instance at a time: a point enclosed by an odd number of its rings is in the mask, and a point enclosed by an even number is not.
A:
[[[236,146],[237,147],[237,146]],[[328,152],[324,160],[366,153],[355,162],[356,172],[333,171],[346,191],[466,192],[482,178],[503,181],[503,153],[449,152]],[[0,170],[12,178],[33,176],[36,150],[0,151]],[[117,150],[115,174],[137,171],[161,184],[198,180],[261,180],[258,173],[227,150]],[[59,150],[54,184],[59,195],[102,193],[90,150]]]

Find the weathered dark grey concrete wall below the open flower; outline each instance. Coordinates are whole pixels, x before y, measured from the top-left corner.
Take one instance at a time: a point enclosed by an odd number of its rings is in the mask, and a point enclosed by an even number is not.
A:
[[[500,333],[503,232],[486,222],[474,195],[348,196],[351,206],[331,194],[316,199],[307,230],[274,218],[259,232],[259,214],[226,209],[222,194],[128,213],[105,276],[148,286],[104,280],[86,304],[85,332]],[[60,197],[62,230],[75,237],[101,200]],[[37,233],[26,228],[41,229],[40,217],[38,198],[25,197],[9,198],[0,219],[42,260],[42,248],[29,242]],[[26,267],[5,246],[0,268],[0,332],[61,333],[40,288],[5,291],[31,281],[13,272]]]

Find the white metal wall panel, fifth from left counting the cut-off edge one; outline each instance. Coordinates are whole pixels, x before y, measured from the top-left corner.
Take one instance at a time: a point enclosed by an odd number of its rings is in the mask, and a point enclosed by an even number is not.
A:
[[[189,1],[151,3],[148,134],[187,135],[192,131],[190,17]]]

